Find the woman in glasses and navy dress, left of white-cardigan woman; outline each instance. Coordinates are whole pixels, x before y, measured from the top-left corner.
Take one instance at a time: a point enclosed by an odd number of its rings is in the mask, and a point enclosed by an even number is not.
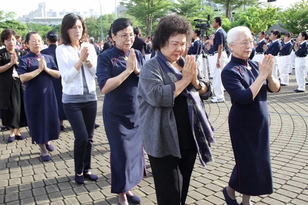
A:
[[[57,140],[60,132],[58,105],[52,78],[60,73],[54,59],[42,54],[42,38],[37,32],[26,35],[26,44],[30,52],[20,57],[18,75],[26,82],[25,110],[32,144],[41,149],[41,160],[49,161],[49,152],[54,148],[49,141]]]

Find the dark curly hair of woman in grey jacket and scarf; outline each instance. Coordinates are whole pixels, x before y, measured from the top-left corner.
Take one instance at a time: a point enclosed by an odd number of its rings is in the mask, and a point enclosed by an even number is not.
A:
[[[177,34],[185,34],[186,41],[190,41],[193,27],[189,21],[177,14],[167,15],[160,19],[154,31],[152,45],[154,50],[160,50],[168,45],[168,40]]]

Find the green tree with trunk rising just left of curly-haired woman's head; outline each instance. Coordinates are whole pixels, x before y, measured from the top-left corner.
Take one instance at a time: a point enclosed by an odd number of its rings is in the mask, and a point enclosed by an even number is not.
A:
[[[147,35],[151,35],[153,21],[159,21],[172,7],[169,0],[124,0],[120,4],[127,8],[126,14],[145,22]]]

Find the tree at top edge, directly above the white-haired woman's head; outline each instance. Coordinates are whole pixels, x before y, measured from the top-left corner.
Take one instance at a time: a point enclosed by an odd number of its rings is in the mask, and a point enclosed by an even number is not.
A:
[[[230,13],[237,8],[242,8],[244,11],[245,7],[257,4],[257,0],[215,0],[214,2],[225,5],[226,18],[229,18]]]

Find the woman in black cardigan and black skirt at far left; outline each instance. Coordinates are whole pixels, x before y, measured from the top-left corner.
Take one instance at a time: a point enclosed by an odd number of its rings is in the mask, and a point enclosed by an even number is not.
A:
[[[21,81],[17,73],[18,58],[24,56],[22,50],[16,49],[16,32],[5,29],[1,33],[1,41],[5,48],[0,50],[0,109],[2,109],[2,124],[10,128],[8,142],[26,139],[20,131],[27,126],[23,105]]]

